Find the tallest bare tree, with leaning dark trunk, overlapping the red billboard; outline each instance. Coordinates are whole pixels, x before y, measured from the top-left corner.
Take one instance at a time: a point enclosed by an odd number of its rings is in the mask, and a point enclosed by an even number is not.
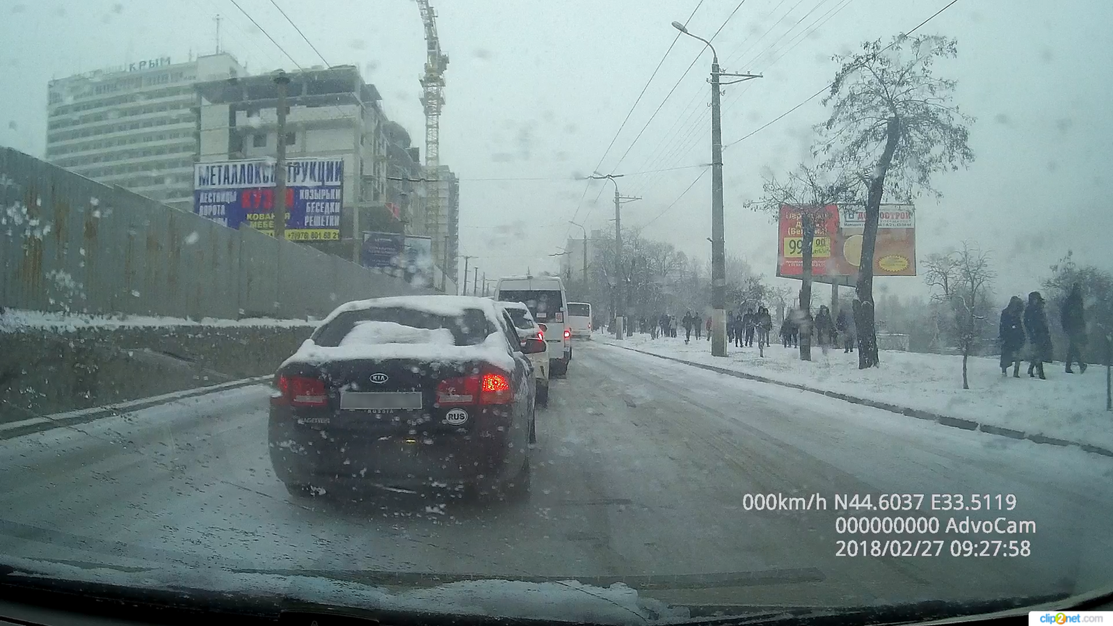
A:
[[[867,41],[841,63],[824,105],[830,117],[816,127],[816,154],[837,172],[858,172],[866,183],[866,224],[858,271],[855,322],[858,366],[877,365],[874,324],[874,250],[881,199],[912,202],[923,190],[939,195],[932,177],[974,159],[967,146],[973,118],[952,104],[956,82],[933,74],[937,58],[954,58],[954,39],[897,36],[888,46]]]

